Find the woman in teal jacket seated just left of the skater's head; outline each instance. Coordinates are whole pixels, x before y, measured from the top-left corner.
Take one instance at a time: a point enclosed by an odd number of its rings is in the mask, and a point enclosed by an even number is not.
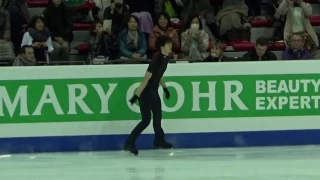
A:
[[[126,20],[126,29],[118,36],[120,59],[147,59],[147,40],[139,29],[139,20],[130,15]]]

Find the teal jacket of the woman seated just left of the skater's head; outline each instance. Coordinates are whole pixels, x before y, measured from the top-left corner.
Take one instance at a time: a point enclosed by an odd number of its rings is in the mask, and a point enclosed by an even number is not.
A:
[[[139,33],[139,40],[137,45],[137,51],[142,56],[146,55],[147,52],[147,39],[143,32],[138,31]],[[128,29],[121,31],[118,35],[118,43],[119,43],[119,57],[124,56],[130,58],[131,55],[135,52],[131,52],[128,50],[127,46],[127,39],[128,39]]]

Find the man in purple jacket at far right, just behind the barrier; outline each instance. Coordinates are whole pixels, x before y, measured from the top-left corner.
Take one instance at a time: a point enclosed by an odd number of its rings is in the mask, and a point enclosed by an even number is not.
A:
[[[303,35],[300,33],[293,33],[289,37],[289,48],[284,51],[282,59],[283,60],[304,60],[313,59],[312,53],[304,48]]]

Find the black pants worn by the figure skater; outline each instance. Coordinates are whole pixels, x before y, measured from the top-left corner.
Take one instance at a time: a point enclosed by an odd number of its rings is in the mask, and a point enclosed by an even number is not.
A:
[[[142,120],[132,130],[127,139],[128,144],[134,144],[138,136],[144,131],[151,122],[151,112],[153,115],[153,129],[155,132],[155,143],[164,142],[164,132],[161,127],[162,109],[161,100],[158,93],[158,89],[149,90],[145,89],[139,99],[140,111]]]

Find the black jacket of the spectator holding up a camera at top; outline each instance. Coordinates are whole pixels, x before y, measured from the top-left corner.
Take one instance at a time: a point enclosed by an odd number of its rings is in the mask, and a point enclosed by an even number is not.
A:
[[[114,10],[113,14],[111,14],[111,8],[107,7],[104,10],[103,19],[112,20],[112,28],[111,31],[113,34],[119,34],[126,26],[125,20],[129,15],[129,9],[126,4],[123,4],[122,13],[119,14],[118,11]]]

